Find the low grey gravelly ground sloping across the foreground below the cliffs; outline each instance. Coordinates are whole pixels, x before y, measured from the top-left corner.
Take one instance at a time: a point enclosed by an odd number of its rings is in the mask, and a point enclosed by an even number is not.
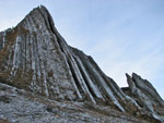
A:
[[[1,98],[3,97],[3,99]],[[5,99],[4,99],[5,98]],[[56,101],[0,83],[0,123],[149,123],[113,107]]]

